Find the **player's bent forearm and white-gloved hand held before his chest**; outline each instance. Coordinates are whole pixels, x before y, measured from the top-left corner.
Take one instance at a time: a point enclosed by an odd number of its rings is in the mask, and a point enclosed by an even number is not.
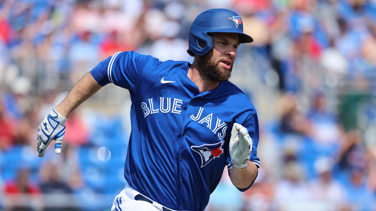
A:
[[[248,188],[256,179],[258,169],[249,161],[252,152],[252,139],[247,128],[235,123],[232,127],[229,152],[233,164],[229,176],[232,184],[243,189]]]

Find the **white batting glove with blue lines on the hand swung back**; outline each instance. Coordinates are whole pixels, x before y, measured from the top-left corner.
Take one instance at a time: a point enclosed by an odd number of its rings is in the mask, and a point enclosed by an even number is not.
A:
[[[65,121],[67,118],[61,116],[55,109],[52,109],[38,128],[36,150],[38,156],[43,157],[47,146],[55,140],[55,153],[61,153],[61,142],[65,134]]]

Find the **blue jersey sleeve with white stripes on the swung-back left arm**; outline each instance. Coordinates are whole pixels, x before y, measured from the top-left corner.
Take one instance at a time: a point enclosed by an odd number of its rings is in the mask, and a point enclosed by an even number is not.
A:
[[[100,62],[90,73],[101,86],[113,83],[136,92],[143,69],[155,58],[134,51],[117,52]],[[156,60],[156,59],[155,59]]]

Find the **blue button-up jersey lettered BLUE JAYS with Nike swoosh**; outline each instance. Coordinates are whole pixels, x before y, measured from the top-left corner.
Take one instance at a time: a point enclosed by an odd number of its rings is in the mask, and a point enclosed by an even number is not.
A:
[[[132,130],[124,165],[129,185],[168,208],[203,210],[224,167],[232,167],[235,122],[247,128],[250,161],[259,167],[258,119],[237,86],[226,81],[201,93],[187,76],[189,68],[188,62],[127,51],[100,62],[91,75],[101,86],[113,83],[130,92]]]

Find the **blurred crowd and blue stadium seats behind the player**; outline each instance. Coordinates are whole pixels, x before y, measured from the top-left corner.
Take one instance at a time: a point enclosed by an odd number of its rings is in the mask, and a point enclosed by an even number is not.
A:
[[[0,0],[0,209],[109,210],[126,183],[127,91],[72,113],[62,155],[37,157],[37,128],[118,51],[192,62],[189,27],[210,8],[255,40],[230,80],[258,109],[261,167],[244,193],[224,172],[207,210],[375,210],[376,0]]]

